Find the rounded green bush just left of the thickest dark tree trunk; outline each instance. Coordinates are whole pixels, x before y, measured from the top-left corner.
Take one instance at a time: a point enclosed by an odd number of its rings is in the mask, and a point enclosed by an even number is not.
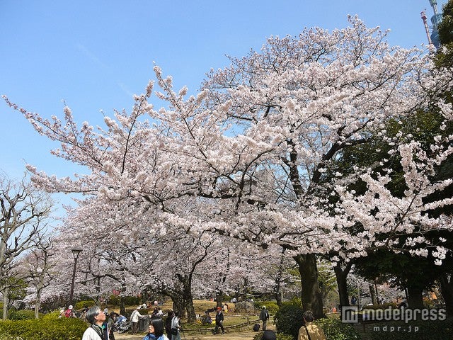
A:
[[[289,334],[297,338],[299,328],[302,327],[304,311],[302,303],[298,299],[283,302],[280,309],[275,314],[275,329],[279,333]]]

